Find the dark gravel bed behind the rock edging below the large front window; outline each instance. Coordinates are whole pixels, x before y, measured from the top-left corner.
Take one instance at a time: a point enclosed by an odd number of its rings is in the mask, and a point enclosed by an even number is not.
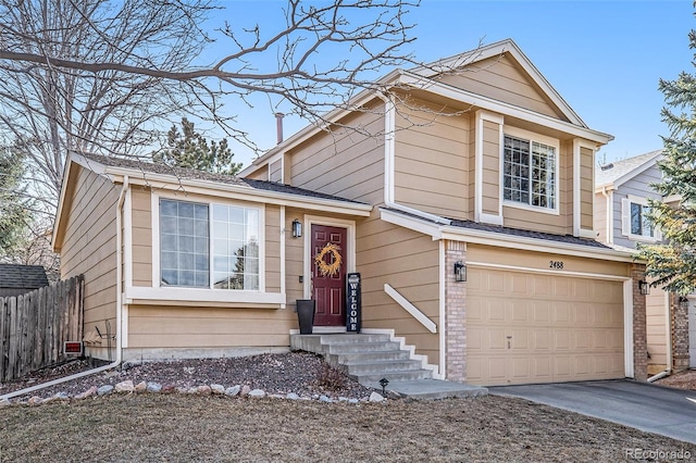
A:
[[[65,377],[90,370],[87,361],[76,360],[53,368],[46,368],[21,380],[0,384],[0,395]],[[50,398],[59,392],[74,397],[92,386],[115,386],[132,380],[159,383],[176,388],[190,388],[217,384],[225,387],[249,386],[269,395],[294,392],[300,397],[324,395],[331,398],[363,399],[373,389],[361,386],[340,372],[332,368],[321,356],[309,352],[288,352],[240,358],[176,360],[167,362],[126,363],[120,370],[110,370],[95,375],[72,379],[47,387],[13,400],[26,400],[38,396]]]

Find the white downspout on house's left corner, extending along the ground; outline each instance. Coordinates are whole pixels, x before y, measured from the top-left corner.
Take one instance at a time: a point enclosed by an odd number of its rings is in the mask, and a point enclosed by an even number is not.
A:
[[[51,386],[55,386],[62,383],[67,383],[73,379],[82,378],[85,376],[96,375],[97,373],[105,372],[107,370],[114,368],[121,364],[122,352],[121,352],[121,333],[122,333],[122,317],[123,317],[123,251],[121,246],[123,243],[123,236],[121,232],[121,225],[123,223],[121,208],[123,207],[123,202],[125,201],[126,190],[128,189],[128,176],[125,175],[123,177],[123,187],[121,188],[121,193],[119,195],[119,201],[116,203],[116,326],[119,327],[116,331],[116,360],[112,363],[103,366],[99,366],[94,370],[89,370],[87,372],[75,373],[74,375],[65,376],[64,378],[53,379],[52,381],[42,383],[40,385],[32,386],[25,389],[15,390],[14,392],[8,392],[3,396],[0,396],[0,402],[3,400],[10,400],[14,397],[25,396],[30,392],[35,392],[37,390],[46,389]]]

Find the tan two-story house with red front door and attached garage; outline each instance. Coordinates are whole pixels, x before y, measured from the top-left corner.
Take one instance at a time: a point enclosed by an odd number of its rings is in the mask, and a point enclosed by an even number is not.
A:
[[[346,330],[358,272],[363,333],[403,338],[435,377],[645,379],[644,265],[595,239],[612,137],[511,40],[376,84],[394,93],[365,90],[239,179],[71,154],[54,248],[63,277],[85,274],[85,331],[108,321],[124,359],[287,349],[298,299],[315,330]]]

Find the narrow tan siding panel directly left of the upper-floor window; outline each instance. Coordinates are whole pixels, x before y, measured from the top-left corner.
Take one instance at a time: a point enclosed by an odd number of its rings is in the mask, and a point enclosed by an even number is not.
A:
[[[483,185],[482,209],[486,214],[498,215],[500,205],[500,126],[483,122]]]

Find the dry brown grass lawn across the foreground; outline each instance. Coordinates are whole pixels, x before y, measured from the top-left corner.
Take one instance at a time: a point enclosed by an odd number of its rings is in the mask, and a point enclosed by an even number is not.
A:
[[[623,461],[696,446],[600,420],[485,397],[385,404],[127,395],[0,409],[0,460]]]

